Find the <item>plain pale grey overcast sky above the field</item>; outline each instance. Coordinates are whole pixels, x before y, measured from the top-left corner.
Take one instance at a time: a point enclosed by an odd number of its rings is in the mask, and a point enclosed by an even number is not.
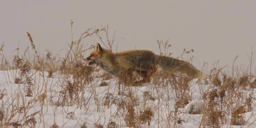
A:
[[[193,65],[201,69],[208,63],[208,71],[218,60],[218,67],[228,64],[231,69],[236,56],[235,64],[246,67],[246,54],[256,50],[255,0],[1,0],[0,43],[5,47],[0,54],[11,56],[18,43],[19,52],[24,52],[30,46],[26,31],[42,54],[57,54],[71,42],[70,19],[74,40],[88,28],[108,25],[115,38],[123,38],[115,42],[117,51],[136,48],[159,54],[156,40],[169,39],[172,57],[184,48],[194,49]],[[83,43],[92,45],[93,40]]]

